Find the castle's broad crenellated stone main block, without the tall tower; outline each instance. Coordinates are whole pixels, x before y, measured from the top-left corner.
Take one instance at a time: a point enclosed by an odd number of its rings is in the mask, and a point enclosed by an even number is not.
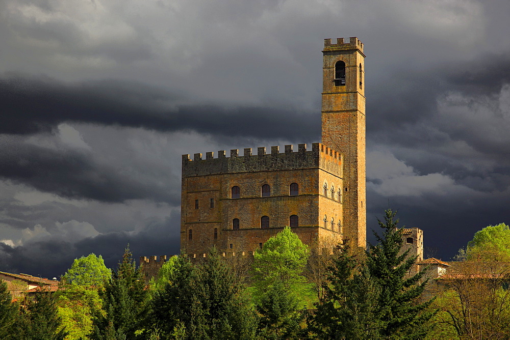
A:
[[[244,149],[243,156],[238,150],[231,150],[230,157],[225,151],[217,158],[212,152],[206,159],[183,155],[181,247],[192,258],[205,257],[212,245],[230,256],[250,254],[290,225],[292,215],[298,217],[292,229],[303,242],[311,244],[319,236],[340,239],[342,171],[341,155],[319,143],[309,151],[300,144],[297,152],[287,145],[283,153],[272,147],[269,154],[258,148],[257,155],[251,149]],[[292,183],[297,193],[291,194]],[[263,185],[269,185],[268,196],[262,195]],[[240,188],[238,198],[232,196],[234,186]],[[263,216],[269,218],[268,228],[261,224]]]

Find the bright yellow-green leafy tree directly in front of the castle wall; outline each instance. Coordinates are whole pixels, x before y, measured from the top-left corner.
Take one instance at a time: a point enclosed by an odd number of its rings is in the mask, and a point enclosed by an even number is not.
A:
[[[308,246],[286,226],[267,240],[253,259],[253,281],[257,294],[262,294],[277,282],[285,289],[300,290],[305,278],[300,274],[309,257]]]

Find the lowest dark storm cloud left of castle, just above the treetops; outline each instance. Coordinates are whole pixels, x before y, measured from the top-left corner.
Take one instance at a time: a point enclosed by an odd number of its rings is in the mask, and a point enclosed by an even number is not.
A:
[[[107,267],[116,268],[127,244],[137,264],[140,256],[171,256],[179,253],[179,219],[179,213],[174,213],[164,223],[148,225],[145,231],[137,234],[101,234],[75,243],[58,235],[17,247],[0,242],[0,268],[11,273],[58,278],[71,266],[73,259],[90,253],[100,254]]]

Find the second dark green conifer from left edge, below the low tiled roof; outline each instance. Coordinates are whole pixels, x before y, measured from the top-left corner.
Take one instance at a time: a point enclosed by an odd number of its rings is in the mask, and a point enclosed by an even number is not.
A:
[[[34,299],[20,309],[15,334],[17,338],[40,340],[59,340],[67,336],[52,293],[37,292]]]

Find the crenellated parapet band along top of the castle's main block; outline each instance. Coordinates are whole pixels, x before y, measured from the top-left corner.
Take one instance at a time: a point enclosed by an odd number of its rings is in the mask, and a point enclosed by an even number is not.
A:
[[[239,156],[239,149],[231,150],[230,157],[226,157],[224,150],[218,151],[217,158],[214,152],[206,153],[206,159],[202,159],[201,153],[194,154],[193,159],[189,154],[183,155],[183,177],[304,168],[322,168],[338,174],[341,165],[342,155],[320,143],[313,143],[311,151],[307,151],[306,144],[299,144],[297,152],[292,145],[286,145],[283,153],[278,146],[271,147],[271,153],[261,147],[256,155],[246,148],[243,156]]]

